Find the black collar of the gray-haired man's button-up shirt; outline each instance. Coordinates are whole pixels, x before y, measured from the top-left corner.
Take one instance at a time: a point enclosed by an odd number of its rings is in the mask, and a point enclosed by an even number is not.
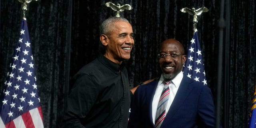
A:
[[[111,70],[113,70],[114,72],[119,72],[119,70],[122,70],[125,66],[124,61],[122,62],[121,65],[116,64],[114,62],[112,62],[111,60],[109,60],[108,58],[106,58],[105,56],[103,56],[102,54],[99,55],[98,60],[104,64],[106,67],[110,68]]]

